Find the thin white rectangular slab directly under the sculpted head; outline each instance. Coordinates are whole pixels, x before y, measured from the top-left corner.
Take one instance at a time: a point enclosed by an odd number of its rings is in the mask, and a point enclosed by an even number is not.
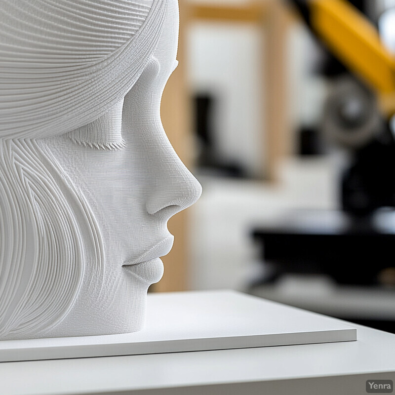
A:
[[[146,328],[122,335],[0,341],[0,361],[346,342],[356,328],[234,291],[148,295]]]

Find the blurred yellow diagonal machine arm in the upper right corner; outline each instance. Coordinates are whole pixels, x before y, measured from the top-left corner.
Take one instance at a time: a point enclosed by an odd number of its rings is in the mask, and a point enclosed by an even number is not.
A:
[[[350,71],[378,95],[381,108],[395,114],[395,56],[377,29],[346,0],[294,0],[311,30]]]

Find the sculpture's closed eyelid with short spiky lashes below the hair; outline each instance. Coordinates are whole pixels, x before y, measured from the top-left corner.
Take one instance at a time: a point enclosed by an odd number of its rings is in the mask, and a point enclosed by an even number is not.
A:
[[[121,134],[122,108],[123,98],[100,118],[69,132],[69,138],[85,147],[121,150],[125,147]]]

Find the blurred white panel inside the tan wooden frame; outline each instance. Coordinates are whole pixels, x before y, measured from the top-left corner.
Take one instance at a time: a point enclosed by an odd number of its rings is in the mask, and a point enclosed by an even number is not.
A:
[[[243,164],[252,176],[262,174],[265,160],[262,40],[251,25],[196,23],[188,41],[192,91],[217,98],[220,156]]]

